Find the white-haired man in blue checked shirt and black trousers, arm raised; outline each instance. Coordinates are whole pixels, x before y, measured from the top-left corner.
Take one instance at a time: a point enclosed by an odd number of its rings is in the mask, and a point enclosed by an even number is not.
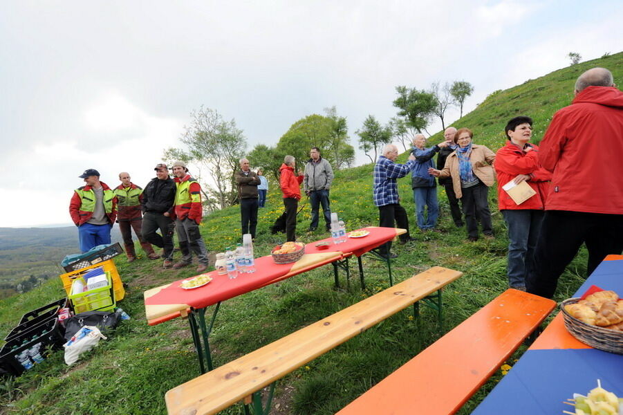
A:
[[[416,164],[416,158],[409,154],[409,161],[401,165],[396,163],[398,157],[398,147],[388,144],[383,148],[383,155],[378,158],[374,166],[374,185],[373,199],[378,206],[379,226],[394,228],[394,223],[398,228],[407,230],[406,234],[400,235],[400,242],[407,243],[413,241],[409,235],[409,217],[407,211],[400,205],[398,196],[398,185],[396,179],[405,177]],[[380,254],[386,258],[396,258],[398,255],[389,251],[391,241],[379,247]]]

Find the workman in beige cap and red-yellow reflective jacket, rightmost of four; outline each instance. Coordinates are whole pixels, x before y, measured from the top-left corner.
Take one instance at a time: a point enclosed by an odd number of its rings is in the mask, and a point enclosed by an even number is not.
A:
[[[197,256],[199,265],[197,273],[207,269],[207,250],[199,232],[199,223],[203,214],[201,205],[201,185],[188,174],[185,163],[176,161],[173,164],[173,175],[176,183],[175,194],[175,228],[182,251],[182,259],[173,268],[182,268],[192,264],[192,252]]]

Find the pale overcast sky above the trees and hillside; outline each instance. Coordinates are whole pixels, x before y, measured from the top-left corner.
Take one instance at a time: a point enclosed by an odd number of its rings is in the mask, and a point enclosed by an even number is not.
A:
[[[571,51],[619,52],[622,9],[619,0],[3,0],[0,227],[71,223],[87,168],[111,187],[121,171],[145,186],[201,105],[234,118],[249,148],[335,105],[356,148],[366,116],[396,115],[397,85],[467,80],[469,111],[567,66]]]

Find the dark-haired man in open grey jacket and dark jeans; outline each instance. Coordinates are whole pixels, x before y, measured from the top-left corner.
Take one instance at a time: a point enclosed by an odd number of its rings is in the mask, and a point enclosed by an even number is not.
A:
[[[331,208],[329,207],[329,190],[333,182],[333,169],[327,160],[320,156],[320,149],[312,147],[310,159],[305,166],[303,189],[309,196],[312,207],[312,221],[308,232],[318,227],[318,210],[322,205],[326,230],[331,230]]]

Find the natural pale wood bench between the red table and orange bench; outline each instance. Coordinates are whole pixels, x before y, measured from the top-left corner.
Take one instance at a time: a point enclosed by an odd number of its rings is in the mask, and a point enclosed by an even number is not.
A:
[[[167,391],[169,414],[215,414],[246,398],[257,414],[263,387],[371,326],[439,291],[462,273],[435,266],[342,311]]]

